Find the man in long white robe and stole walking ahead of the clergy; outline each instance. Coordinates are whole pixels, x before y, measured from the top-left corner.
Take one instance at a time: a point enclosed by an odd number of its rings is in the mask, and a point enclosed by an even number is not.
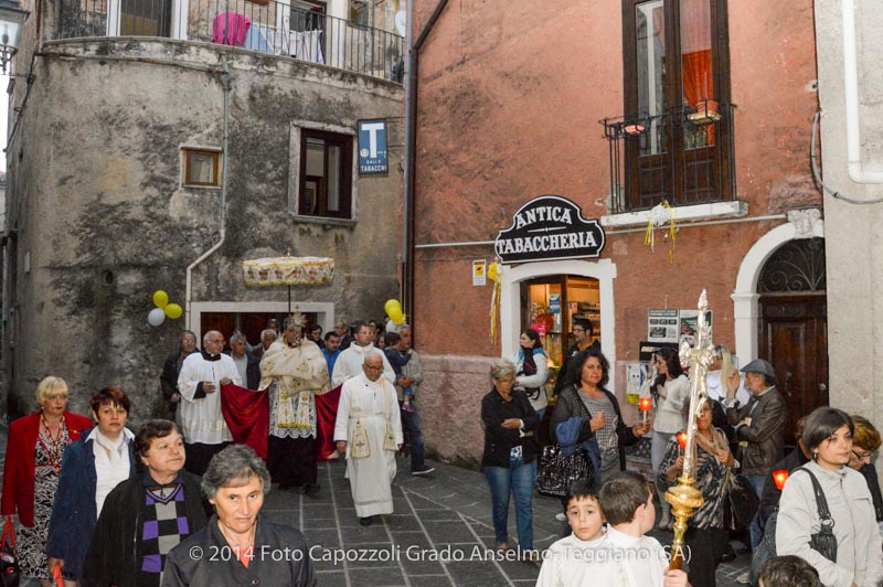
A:
[[[383,359],[365,356],[362,374],[340,391],[334,425],[338,452],[347,456],[347,477],[359,523],[393,513],[395,453],[402,448],[402,419],[395,387],[382,377]]]

